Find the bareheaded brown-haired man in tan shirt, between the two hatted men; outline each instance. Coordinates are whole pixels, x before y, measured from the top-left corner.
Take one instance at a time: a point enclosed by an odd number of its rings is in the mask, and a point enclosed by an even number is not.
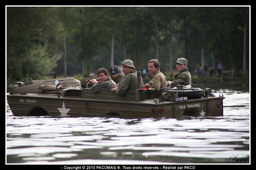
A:
[[[155,88],[156,91],[160,88],[167,87],[166,76],[160,72],[160,65],[157,59],[148,61],[148,72],[152,75],[151,81],[145,84],[143,88]]]

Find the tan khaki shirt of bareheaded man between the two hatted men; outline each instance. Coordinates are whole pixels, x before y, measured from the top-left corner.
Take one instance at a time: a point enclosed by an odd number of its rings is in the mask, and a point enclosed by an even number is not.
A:
[[[157,70],[152,76],[151,81],[147,84],[147,88],[155,88],[158,91],[160,88],[167,87],[166,76]]]

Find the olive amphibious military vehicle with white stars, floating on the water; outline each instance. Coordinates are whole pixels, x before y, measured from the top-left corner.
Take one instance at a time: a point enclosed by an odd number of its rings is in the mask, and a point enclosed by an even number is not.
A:
[[[140,71],[137,72],[140,77]],[[91,92],[92,78],[34,80],[25,86],[9,86],[7,102],[13,115],[180,117],[222,116],[223,95],[214,96],[210,88],[192,85],[174,88],[138,88],[118,96],[110,90]]]

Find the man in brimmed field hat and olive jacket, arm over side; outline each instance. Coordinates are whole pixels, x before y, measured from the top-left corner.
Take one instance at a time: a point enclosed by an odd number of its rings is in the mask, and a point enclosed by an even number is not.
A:
[[[124,77],[122,78],[118,87],[113,86],[111,89],[112,92],[116,91],[119,96],[123,96],[127,91],[136,90],[138,86],[137,81],[137,70],[134,70],[135,67],[131,60],[124,60],[121,62],[122,72]],[[140,87],[143,88],[143,80],[140,76]]]

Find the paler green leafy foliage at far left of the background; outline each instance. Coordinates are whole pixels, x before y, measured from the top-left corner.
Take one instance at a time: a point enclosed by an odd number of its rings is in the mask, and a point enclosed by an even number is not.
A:
[[[7,85],[52,72],[63,53],[55,14],[56,8],[7,8]]]

